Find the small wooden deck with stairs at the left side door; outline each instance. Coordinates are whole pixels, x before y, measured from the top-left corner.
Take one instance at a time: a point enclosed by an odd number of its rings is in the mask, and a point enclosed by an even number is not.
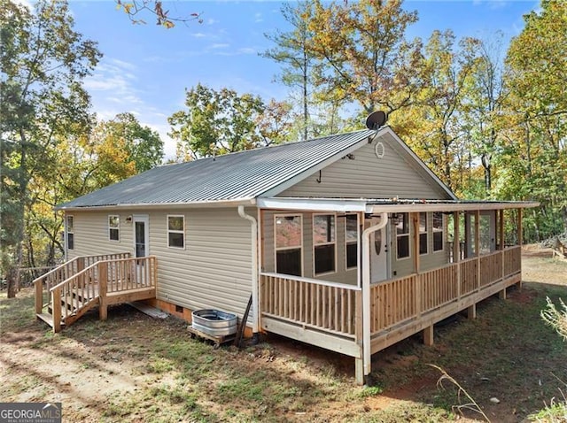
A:
[[[35,313],[59,332],[94,307],[106,319],[110,304],[155,298],[157,260],[129,253],[74,258],[37,278]]]

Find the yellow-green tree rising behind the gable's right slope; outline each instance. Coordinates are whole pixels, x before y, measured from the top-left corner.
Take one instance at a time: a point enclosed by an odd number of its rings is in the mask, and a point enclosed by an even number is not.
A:
[[[423,88],[403,113],[392,115],[391,124],[439,178],[461,194],[470,151],[462,111],[478,40],[455,43],[451,31],[433,32],[417,64]]]

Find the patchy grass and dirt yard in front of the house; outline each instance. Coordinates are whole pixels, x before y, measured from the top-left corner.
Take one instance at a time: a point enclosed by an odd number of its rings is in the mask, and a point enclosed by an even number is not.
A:
[[[522,290],[509,292],[515,310],[541,304],[550,289],[564,289],[567,299],[567,264],[553,260],[550,250],[524,249],[523,280]],[[439,327],[434,347],[423,347],[414,336],[376,354],[371,376],[379,389],[373,391],[354,387],[353,359],[282,337],[269,336],[243,351],[214,351],[186,341],[184,322],[152,319],[128,305],[112,308],[105,322],[89,313],[53,335],[34,318],[31,289],[16,300],[1,298],[2,401],[60,402],[64,421],[447,421],[459,412],[452,407],[454,391],[439,390],[440,373],[427,366],[439,363],[470,390],[489,419],[517,422],[555,395],[550,392],[560,384],[549,369],[558,366],[557,377],[567,375],[567,354],[553,335],[518,345],[491,340],[493,347],[474,350],[478,338],[469,340],[475,331],[501,327],[491,313],[501,313],[507,324],[508,309],[498,309],[503,306],[497,299],[479,305],[477,327],[462,317]],[[538,350],[541,345],[548,350]],[[550,362],[544,364],[539,353]],[[502,355],[514,359],[503,362]],[[530,381],[524,381],[527,376]],[[256,410],[247,410],[246,401]]]

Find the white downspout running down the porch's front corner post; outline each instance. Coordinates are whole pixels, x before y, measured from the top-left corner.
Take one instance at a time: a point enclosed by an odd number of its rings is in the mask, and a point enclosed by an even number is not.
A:
[[[388,213],[380,214],[380,223],[362,232],[362,367],[363,375],[372,371],[370,350],[370,234],[388,224]]]

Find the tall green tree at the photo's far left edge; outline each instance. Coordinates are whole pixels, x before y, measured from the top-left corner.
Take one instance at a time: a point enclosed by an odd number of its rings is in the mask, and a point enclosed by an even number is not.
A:
[[[35,4],[35,13],[0,1],[0,92],[3,270],[23,260],[28,185],[44,165],[45,150],[70,127],[89,125],[89,96],[81,81],[100,58],[96,43],[73,30],[65,2]],[[19,275],[9,281],[15,295]]]

